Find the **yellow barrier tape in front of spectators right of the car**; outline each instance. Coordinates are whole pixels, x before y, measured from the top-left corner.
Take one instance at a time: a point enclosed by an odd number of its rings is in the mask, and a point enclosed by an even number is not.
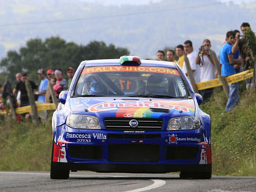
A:
[[[231,83],[234,83],[234,82],[239,82],[239,81],[242,81],[242,80],[249,79],[252,76],[253,76],[253,69],[249,69],[249,70],[244,71],[244,72],[240,72],[240,73],[237,73],[237,74],[230,75],[230,76],[226,77],[226,80],[227,80],[228,84],[231,84]],[[203,89],[206,89],[206,88],[214,88],[214,87],[218,87],[220,85],[222,85],[222,83],[220,82],[219,78],[216,78],[214,80],[208,80],[208,81],[205,81],[205,82],[197,82],[198,90],[203,90]]]

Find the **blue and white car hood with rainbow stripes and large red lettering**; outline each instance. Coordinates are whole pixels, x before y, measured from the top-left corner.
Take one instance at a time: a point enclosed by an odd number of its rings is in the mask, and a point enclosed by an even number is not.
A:
[[[195,103],[192,99],[70,98],[69,107],[74,114],[94,113],[101,118],[195,115]]]

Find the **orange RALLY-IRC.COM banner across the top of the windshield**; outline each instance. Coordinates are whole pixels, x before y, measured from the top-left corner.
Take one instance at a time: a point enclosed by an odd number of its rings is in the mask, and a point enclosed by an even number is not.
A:
[[[173,74],[181,76],[176,69],[156,66],[96,66],[83,69],[82,74],[100,73],[100,72],[153,72],[161,74]]]

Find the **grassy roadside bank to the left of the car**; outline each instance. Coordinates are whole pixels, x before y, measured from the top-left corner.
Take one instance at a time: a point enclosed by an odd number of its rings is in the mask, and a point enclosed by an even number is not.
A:
[[[0,170],[48,171],[52,146],[51,122],[40,125],[11,119],[0,123]]]

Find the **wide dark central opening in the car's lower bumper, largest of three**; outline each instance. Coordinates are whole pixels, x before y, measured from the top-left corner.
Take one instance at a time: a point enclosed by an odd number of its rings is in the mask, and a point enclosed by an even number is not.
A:
[[[109,161],[157,162],[159,145],[109,145],[108,158]]]

